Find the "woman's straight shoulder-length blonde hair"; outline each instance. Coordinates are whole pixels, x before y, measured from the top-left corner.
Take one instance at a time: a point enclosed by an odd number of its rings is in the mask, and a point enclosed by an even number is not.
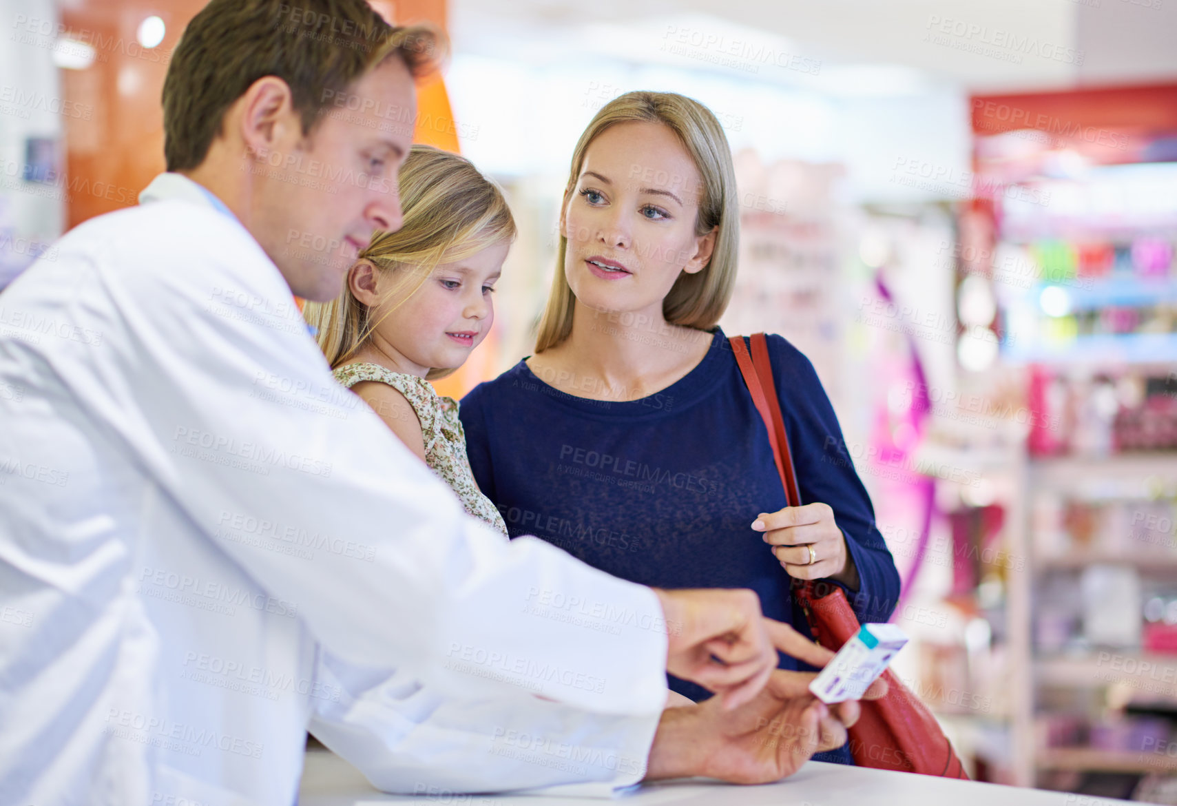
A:
[[[564,188],[564,200],[576,189],[585,152],[601,132],[618,124],[656,122],[669,126],[699,171],[703,193],[699,213],[694,222],[694,234],[704,235],[716,229],[714,249],[711,260],[694,274],[683,272],[663,300],[663,315],[672,325],[710,331],[731,301],[736,284],[737,249],[739,247],[739,205],[736,192],[736,169],[732,166],[731,148],[719,121],[711,109],[696,100],[676,93],[631,92],[618,95],[601,107],[588,122],[588,127],[577,141],[572,152],[572,169]],[[554,347],[572,332],[572,315],[576,298],[564,271],[564,255],[568,240],[560,233],[556,254],[556,277],[547,306],[539,322],[536,352]]]

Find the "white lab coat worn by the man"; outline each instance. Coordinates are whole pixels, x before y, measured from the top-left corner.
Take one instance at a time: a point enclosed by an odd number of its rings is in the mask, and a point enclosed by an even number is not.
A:
[[[227,211],[144,200],[0,294],[0,804],[288,806],[307,727],[390,791],[638,780],[654,594],[465,515]]]

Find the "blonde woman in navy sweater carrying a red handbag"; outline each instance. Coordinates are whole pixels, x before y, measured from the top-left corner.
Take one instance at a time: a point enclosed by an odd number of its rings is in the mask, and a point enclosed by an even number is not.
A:
[[[765,615],[806,635],[791,579],[827,579],[862,621],[886,621],[898,573],[813,367],[769,337],[811,501],[790,508],[717,325],[738,215],[731,152],[706,107],[652,92],[603,107],[572,155],[536,354],[463,401],[474,478],[511,537],[536,534],[613,575],[752,588]],[[572,617],[598,606],[565,604]],[[804,668],[784,654],[780,667]],[[814,758],[852,762],[846,747]]]

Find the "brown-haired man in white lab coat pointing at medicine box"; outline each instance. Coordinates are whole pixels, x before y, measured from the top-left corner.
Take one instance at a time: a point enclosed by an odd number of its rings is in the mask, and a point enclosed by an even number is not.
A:
[[[334,384],[293,295],[399,226],[434,46],[213,0],[169,172],[0,295],[0,802],[288,805],[308,727],[403,792],[767,780],[845,740],[853,704],[773,671],[827,653],[753,594],[504,545]],[[667,670],[723,697],[663,712]]]

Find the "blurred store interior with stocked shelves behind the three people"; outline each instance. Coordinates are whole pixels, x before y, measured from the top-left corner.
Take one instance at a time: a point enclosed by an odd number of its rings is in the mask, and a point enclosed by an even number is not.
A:
[[[201,0],[0,0],[0,287],[164,168]],[[897,672],[982,780],[1177,802],[1177,4],[412,0],[417,139],[520,235],[461,394],[531,352],[572,146],[630,89],[736,155],[729,332],[813,361],[904,577]],[[35,328],[4,313],[0,327]]]

